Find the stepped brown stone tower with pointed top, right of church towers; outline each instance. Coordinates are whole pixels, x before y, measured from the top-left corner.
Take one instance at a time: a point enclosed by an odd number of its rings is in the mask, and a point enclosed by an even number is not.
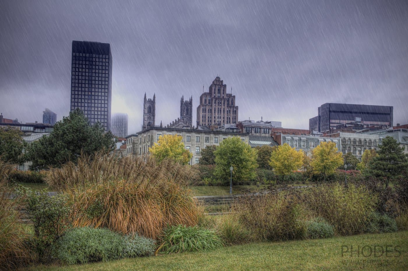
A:
[[[238,107],[235,104],[235,95],[227,93],[226,88],[227,85],[217,76],[208,92],[201,94],[200,105],[197,107],[197,127],[237,123]]]

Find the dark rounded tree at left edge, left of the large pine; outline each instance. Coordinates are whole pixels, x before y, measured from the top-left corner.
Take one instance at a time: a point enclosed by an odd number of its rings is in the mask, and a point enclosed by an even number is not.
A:
[[[21,137],[22,134],[22,131],[10,126],[0,127],[0,155],[12,164],[24,161],[25,142]]]

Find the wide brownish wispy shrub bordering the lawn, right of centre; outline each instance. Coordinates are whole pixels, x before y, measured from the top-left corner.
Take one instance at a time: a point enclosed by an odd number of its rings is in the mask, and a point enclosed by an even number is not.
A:
[[[288,193],[248,195],[237,200],[232,209],[257,240],[299,239],[306,233],[302,221],[306,213]]]

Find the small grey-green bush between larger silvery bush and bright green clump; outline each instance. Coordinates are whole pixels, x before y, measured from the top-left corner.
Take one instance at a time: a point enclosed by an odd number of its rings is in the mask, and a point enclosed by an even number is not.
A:
[[[154,253],[155,242],[153,239],[143,236],[125,235],[123,238],[123,256],[124,257],[142,257],[151,256]]]

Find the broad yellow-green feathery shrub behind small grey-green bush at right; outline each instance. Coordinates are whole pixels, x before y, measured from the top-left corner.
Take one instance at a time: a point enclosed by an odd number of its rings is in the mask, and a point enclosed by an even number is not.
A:
[[[363,233],[368,215],[374,211],[377,197],[365,187],[350,184],[325,184],[308,189],[301,200],[315,217],[322,217],[341,235]]]

